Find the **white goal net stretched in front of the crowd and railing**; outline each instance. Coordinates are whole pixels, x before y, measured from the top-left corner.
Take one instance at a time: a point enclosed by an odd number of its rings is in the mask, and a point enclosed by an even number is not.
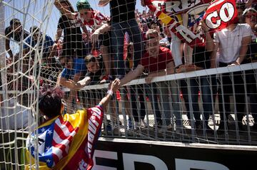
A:
[[[256,144],[256,4],[78,1],[0,0],[0,169],[24,169],[41,87],[73,114],[115,78],[101,137]]]

